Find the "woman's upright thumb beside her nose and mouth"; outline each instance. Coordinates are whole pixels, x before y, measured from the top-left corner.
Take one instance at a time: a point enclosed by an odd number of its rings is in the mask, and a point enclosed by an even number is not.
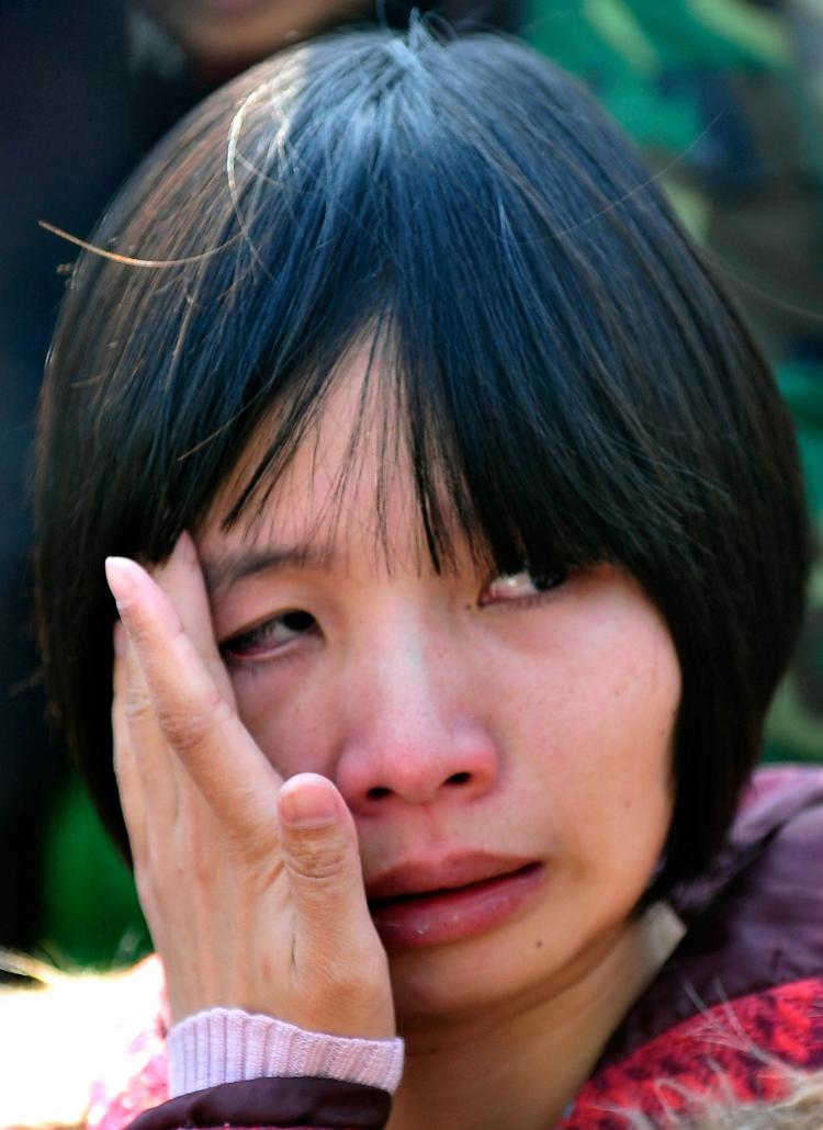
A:
[[[370,986],[382,985],[375,968],[385,964],[385,954],[369,914],[352,814],[331,781],[301,773],[283,785],[278,815],[295,913],[295,975],[317,983],[328,971],[341,1033],[350,1032],[352,1017],[358,1016],[358,1035],[393,1035],[390,994],[375,993],[373,1008],[364,1000]],[[323,1023],[331,1031],[328,1014]]]

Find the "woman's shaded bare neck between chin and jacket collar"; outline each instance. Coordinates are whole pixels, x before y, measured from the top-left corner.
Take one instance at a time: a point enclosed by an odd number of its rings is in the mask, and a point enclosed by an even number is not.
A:
[[[569,984],[505,1011],[404,1033],[406,1070],[389,1130],[554,1125],[681,933],[670,911],[652,907]]]

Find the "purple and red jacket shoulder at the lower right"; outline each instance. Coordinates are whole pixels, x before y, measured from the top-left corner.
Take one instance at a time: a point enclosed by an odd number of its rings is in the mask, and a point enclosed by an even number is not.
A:
[[[692,1095],[779,1097],[823,1069],[823,771],[760,773],[728,845],[678,893],[683,941],[614,1034],[566,1130]]]

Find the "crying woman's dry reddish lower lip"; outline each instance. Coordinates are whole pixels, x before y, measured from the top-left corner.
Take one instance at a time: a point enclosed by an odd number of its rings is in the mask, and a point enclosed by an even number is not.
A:
[[[538,863],[454,890],[378,902],[372,919],[388,948],[440,946],[484,933],[518,911],[543,883]]]

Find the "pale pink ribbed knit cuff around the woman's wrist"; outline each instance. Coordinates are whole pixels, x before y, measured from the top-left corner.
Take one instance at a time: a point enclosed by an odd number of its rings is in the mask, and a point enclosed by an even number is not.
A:
[[[402,1075],[402,1040],[359,1040],[309,1032],[240,1008],[210,1008],[168,1033],[168,1094],[242,1079],[322,1076],[393,1094]]]

